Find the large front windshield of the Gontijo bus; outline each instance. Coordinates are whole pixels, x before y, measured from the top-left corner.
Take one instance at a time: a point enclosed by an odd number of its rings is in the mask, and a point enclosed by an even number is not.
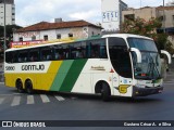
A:
[[[136,79],[161,78],[161,60],[156,43],[149,39],[128,38],[129,48],[136,48],[141,53],[141,63],[137,63],[135,52],[132,52],[134,74]]]

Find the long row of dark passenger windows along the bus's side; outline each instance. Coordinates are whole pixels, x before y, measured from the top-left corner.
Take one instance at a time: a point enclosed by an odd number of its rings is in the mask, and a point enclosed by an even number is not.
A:
[[[5,56],[8,63],[107,57],[105,39],[17,50],[7,52]]]

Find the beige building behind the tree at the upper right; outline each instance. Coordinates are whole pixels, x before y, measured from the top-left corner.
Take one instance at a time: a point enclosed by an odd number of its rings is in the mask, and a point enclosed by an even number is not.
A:
[[[137,17],[149,21],[151,17],[159,17],[162,23],[162,28],[165,28],[165,32],[174,35],[174,6],[158,6],[150,8],[145,6],[141,9],[127,9],[122,12],[122,21],[126,18],[135,20]]]

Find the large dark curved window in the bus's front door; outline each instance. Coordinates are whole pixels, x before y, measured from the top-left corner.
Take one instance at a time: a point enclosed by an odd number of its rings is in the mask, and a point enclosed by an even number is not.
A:
[[[132,65],[127,46],[122,38],[109,38],[109,52],[111,63],[116,73],[123,77],[132,78]]]

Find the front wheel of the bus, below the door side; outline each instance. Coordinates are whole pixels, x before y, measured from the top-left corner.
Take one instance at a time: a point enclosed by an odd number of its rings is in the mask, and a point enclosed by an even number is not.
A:
[[[103,101],[109,101],[110,100],[110,88],[108,86],[107,82],[102,82],[102,87],[101,87],[101,98]]]

